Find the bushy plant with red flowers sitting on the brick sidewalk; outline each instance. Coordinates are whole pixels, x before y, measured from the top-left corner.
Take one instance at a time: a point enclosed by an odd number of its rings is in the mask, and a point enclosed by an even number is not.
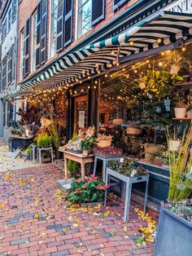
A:
[[[105,190],[108,185],[102,179],[91,174],[85,179],[81,179],[80,174],[76,174],[75,181],[71,184],[71,191],[68,192],[68,201],[71,204],[85,206],[96,206],[103,203]]]

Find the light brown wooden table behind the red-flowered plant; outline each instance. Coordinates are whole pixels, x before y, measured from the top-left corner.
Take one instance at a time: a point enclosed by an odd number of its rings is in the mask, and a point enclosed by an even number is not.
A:
[[[68,174],[68,160],[76,161],[81,164],[81,178],[85,178],[85,165],[94,162],[94,155],[84,156],[83,154],[77,154],[74,152],[65,151],[62,147],[59,148],[60,152],[63,152],[64,157],[64,171],[65,179],[67,179]]]

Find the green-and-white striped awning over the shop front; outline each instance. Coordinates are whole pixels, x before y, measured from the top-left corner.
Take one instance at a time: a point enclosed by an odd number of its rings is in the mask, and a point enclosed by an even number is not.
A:
[[[62,56],[45,72],[30,82],[23,82],[15,91],[4,95],[2,99],[20,95],[24,91],[30,91],[33,87],[47,88],[76,82],[97,73],[98,68],[103,71],[115,65],[117,55],[123,58],[168,45],[180,38],[187,40],[191,37],[191,14],[158,11],[137,24],[133,24],[124,33]]]

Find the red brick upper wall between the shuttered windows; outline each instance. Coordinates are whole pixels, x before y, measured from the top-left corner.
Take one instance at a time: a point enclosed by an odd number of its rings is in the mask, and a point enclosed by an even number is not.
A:
[[[105,20],[102,20],[101,22],[99,22],[98,24],[96,24],[94,26],[93,29],[90,29],[88,33],[86,33],[85,35],[83,35],[81,38],[78,38],[76,41],[72,42],[72,44],[70,46],[68,46],[67,50],[70,49],[72,46],[75,46],[78,42],[81,42],[84,38],[86,38],[87,36],[89,36],[91,33],[94,33],[95,31],[97,31],[98,29],[102,28],[105,24],[109,23],[110,20],[113,20],[114,18],[116,18],[116,16],[120,15],[120,13],[124,12],[124,10],[128,9],[129,7],[131,7],[135,2],[137,2],[138,0],[130,0],[128,3],[126,3],[123,7],[120,7],[120,10],[114,12],[113,11],[113,1],[112,0],[106,0],[106,11],[105,11]],[[28,19],[29,15],[33,14],[33,11],[35,11],[37,4],[38,4],[39,0],[33,0],[33,1],[28,1],[28,0],[23,0],[22,2],[20,2],[20,14],[19,14],[19,33],[20,31],[24,28],[24,24],[26,22],[26,20]],[[50,2],[50,0],[49,0]],[[48,11],[48,28],[47,28],[47,32],[49,32],[49,13],[50,11]],[[74,0],[74,22],[73,22],[73,38],[75,38],[75,24],[76,24],[76,0]],[[48,49],[48,36],[47,36],[47,49]],[[64,50],[66,51],[66,50]],[[51,60],[47,60],[46,64],[48,64],[50,61],[54,60],[55,58],[57,58],[59,55],[62,55],[63,51],[61,51],[59,54],[56,54]],[[19,35],[19,51],[18,51],[18,84],[20,83],[20,35]],[[42,68],[42,66],[41,66]],[[39,69],[41,69],[39,68]],[[29,74],[29,76],[32,73]]]

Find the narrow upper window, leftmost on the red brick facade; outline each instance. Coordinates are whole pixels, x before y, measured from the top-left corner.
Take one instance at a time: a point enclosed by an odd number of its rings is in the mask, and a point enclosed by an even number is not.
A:
[[[36,50],[37,50],[37,11],[34,12],[32,17],[32,71],[36,68]]]

